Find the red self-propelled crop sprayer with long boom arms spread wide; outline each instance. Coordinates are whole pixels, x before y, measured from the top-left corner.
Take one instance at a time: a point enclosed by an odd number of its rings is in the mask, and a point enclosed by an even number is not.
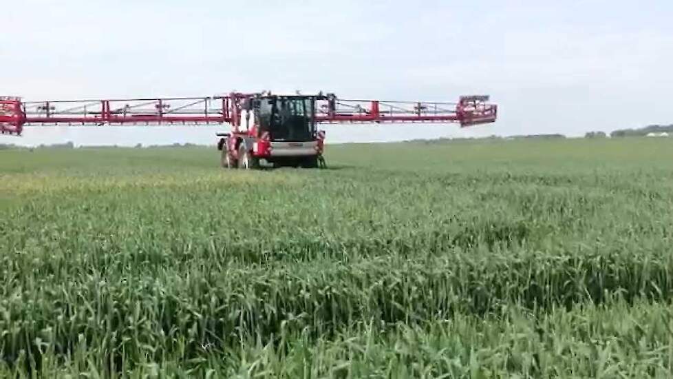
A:
[[[212,125],[223,167],[318,167],[323,161],[323,123],[495,122],[498,106],[489,96],[461,96],[458,103],[342,100],[334,94],[233,92],[226,96],[165,99],[22,101],[0,97],[0,132],[21,135],[24,126]]]

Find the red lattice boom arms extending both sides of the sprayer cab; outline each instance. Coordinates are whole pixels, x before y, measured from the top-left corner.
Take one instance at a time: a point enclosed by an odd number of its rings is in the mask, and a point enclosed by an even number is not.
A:
[[[20,135],[26,125],[201,125],[231,123],[238,132],[242,102],[257,94],[162,99],[23,102],[0,97],[0,132]],[[461,96],[458,103],[341,100],[319,96],[317,123],[493,123],[498,106],[489,96]]]

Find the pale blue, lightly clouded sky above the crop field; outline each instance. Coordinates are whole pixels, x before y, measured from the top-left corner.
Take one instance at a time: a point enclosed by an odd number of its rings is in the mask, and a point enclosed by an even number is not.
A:
[[[328,141],[581,136],[673,123],[672,18],[670,0],[22,0],[0,12],[0,94],[489,94],[491,125],[330,126]],[[213,132],[28,128],[18,143],[214,143]]]

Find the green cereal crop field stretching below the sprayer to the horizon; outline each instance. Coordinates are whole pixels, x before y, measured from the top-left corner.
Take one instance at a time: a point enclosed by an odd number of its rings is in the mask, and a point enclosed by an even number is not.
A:
[[[0,377],[673,375],[673,141],[0,152]]]

